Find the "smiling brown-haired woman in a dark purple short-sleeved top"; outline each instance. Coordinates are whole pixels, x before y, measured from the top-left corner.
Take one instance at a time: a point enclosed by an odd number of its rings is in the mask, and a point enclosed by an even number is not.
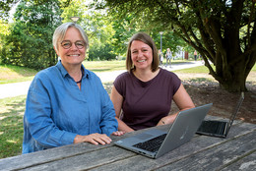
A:
[[[159,68],[158,51],[150,35],[139,32],[132,36],[126,69],[128,72],[116,78],[110,96],[118,130],[132,132],[172,123],[177,115],[168,115],[172,99],[180,110],[195,107],[178,77]]]

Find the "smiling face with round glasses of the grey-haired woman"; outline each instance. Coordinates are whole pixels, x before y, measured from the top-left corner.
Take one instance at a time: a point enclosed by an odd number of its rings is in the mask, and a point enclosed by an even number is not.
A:
[[[68,46],[71,42],[71,47]],[[75,45],[76,42],[76,45]],[[68,28],[62,42],[58,42],[57,55],[61,58],[63,66],[81,65],[86,57],[86,45],[77,28]],[[82,43],[82,44],[81,44]],[[79,47],[79,48],[78,48]],[[82,48],[81,48],[82,47]]]

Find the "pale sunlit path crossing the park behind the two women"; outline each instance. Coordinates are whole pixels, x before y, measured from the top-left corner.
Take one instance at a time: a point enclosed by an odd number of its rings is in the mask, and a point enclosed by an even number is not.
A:
[[[173,64],[171,65],[171,67],[163,66],[161,68],[166,69],[168,71],[174,71],[174,70],[181,70],[185,68],[197,67],[201,65],[203,65],[201,61],[195,61],[195,62],[184,62],[180,64]],[[96,73],[96,75],[100,78],[102,83],[107,83],[107,82],[113,82],[117,76],[119,76],[121,73],[124,73],[124,72],[126,72],[126,70],[102,72],[102,73]],[[31,85],[31,81],[0,85],[0,99],[6,98],[6,97],[18,96],[18,95],[25,95],[28,93],[30,85]]]

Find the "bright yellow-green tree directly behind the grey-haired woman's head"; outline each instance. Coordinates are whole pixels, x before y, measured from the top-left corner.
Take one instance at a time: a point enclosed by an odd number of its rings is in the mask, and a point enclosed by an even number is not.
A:
[[[85,29],[89,37],[90,48],[88,49],[89,60],[111,60],[115,59],[113,52],[112,35],[114,29],[111,21],[106,16],[105,10],[96,10],[94,6],[84,0],[73,0],[68,7],[63,8],[63,22],[70,22],[70,17],[80,17],[77,22]]]

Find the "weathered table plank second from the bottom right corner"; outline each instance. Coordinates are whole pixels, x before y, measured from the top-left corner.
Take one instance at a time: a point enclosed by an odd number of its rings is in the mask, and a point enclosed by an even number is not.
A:
[[[256,131],[194,153],[156,170],[221,170],[256,150]]]

